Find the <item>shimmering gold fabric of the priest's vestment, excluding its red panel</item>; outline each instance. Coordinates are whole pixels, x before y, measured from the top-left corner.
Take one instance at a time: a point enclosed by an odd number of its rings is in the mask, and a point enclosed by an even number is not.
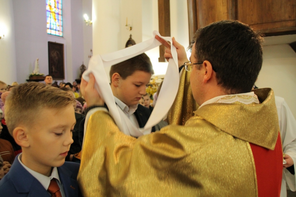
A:
[[[250,143],[275,148],[279,125],[273,91],[255,92],[262,104],[207,104],[193,116],[197,105],[183,98],[190,95],[188,85],[179,88],[174,104],[186,113],[171,111],[173,125],[149,135],[123,134],[105,111],[91,115],[78,174],[84,197],[258,196]],[[282,156],[278,160],[282,163]]]

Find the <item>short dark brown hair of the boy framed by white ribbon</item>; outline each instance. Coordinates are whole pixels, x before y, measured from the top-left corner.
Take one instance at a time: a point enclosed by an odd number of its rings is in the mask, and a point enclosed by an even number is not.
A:
[[[150,58],[145,53],[111,66],[110,79],[112,79],[114,73],[118,73],[120,77],[126,79],[126,77],[132,75],[135,71],[149,72],[151,75],[154,74]]]

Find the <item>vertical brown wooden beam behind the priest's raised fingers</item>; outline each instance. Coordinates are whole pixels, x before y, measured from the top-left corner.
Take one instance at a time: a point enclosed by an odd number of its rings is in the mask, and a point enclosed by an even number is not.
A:
[[[158,0],[158,28],[162,36],[170,36],[170,0]],[[159,46],[158,62],[165,62],[165,47]]]

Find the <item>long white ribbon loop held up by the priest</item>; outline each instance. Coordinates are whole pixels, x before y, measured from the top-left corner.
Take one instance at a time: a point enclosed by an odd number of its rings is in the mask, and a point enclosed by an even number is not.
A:
[[[109,85],[109,80],[107,77],[107,73],[105,72],[105,68],[111,67],[114,64],[123,62],[134,56],[142,54],[145,51],[160,46],[161,43],[155,39],[155,35],[158,35],[160,38],[173,43],[171,37],[163,37],[157,31],[153,31],[154,38],[151,38],[147,41],[130,46],[120,51],[91,57],[89,61],[89,67],[83,73],[83,79],[86,81],[89,81],[89,73],[94,74],[94,77],[96,79],[95,88],[108,106],[109,113],[113,117],[116,125],[123,133],[127,135],[132,135],[134,137],[149,134],[151,132],[151,128],[158,122],[160,122],[168,113],[168,110],[175,100],[179,87],[179,69],[176,48],[175,46],[171,45],[171,53],[173,59],[169,60],[168,68],[163,80],[163,85],[157,98],[157,103],[144,128],[136,128],[128,119],[128,117],[126,117],[126,115],[123,112],[121,113],[121,110],[118,109],[111,87]],[[86,124],[87,121],[88,119],[86,119]],[[84,133],[85,132],[86,129],[84,130]]]

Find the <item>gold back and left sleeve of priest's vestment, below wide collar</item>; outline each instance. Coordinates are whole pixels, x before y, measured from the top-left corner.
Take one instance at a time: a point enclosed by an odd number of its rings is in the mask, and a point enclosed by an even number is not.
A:
[[[138,139],[104,111],[86,124],[78,174],[84,197],[257,195],[249,143],[201,117]]]

